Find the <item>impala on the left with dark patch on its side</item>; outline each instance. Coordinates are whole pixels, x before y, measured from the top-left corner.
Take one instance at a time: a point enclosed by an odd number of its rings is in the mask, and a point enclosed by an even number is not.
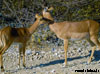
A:
[[[19,65],[21,54],[23,54],[23,66],[25,67],[25,47],[27,41],[30,39],[31,35],[34,33],[39,24],[44,23],[42,16],[36,14],[36,21],[29,28],[11,28],[5,27],[0,30],[0,68],[4,71],[2,55],[10,47],[13,42],[21,43],[22,46],[19,48]]]

